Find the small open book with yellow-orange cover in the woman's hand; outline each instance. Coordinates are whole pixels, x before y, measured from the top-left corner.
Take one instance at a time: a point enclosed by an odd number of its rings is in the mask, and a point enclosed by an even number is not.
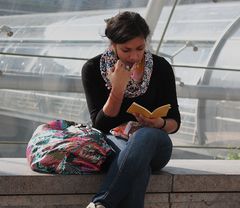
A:
[[[148,109],[143,106],[133,102],[132,105],[127,109],[128,113],[139,113],[147,118],[159,118],[165,117],[168,113],[168,110],[171,108],[170,104],[160,106],[156,108],[153,112],[150,112]]]

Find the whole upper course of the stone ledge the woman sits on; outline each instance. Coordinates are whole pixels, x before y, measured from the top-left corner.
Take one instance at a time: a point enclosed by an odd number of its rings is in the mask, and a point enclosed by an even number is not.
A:
[[[33,172],[25,158],[0,158],[0,194],[95,193],[104,175],[53,175]],[[51,188],[50,188],[51,187]],[[153,173],[149,193],[238,192],[240,161],[171,160]]]

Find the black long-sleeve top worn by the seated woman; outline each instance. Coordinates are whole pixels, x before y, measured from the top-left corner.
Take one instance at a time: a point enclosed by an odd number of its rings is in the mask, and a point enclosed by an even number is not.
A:
[[[172,67],[164,58],[153,54],[153,71],[147,91],[138,97],[124,97],[120,112],[116,117],[109,117],[103,112],[103,106],[110,90],[105,86],[100,72],[100,58],[101,55],[98,55],[89,59],[82,68],[82,82],[93,127],[107,133],[122,123],[135,121],[135,117],[126,110],[132,102],[137,102],[150,111],[159,106],[171,104],[166,118],[174,119],[179,128],[180,113],[176,97],[175,76]]]

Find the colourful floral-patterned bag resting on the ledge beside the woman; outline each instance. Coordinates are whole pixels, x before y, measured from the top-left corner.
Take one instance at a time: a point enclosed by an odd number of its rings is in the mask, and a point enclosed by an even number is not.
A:
[[[111,152],[101,131],[66,120],[54,120],[35,130],[26,156],[34,171],[87,174],[101,171]]]

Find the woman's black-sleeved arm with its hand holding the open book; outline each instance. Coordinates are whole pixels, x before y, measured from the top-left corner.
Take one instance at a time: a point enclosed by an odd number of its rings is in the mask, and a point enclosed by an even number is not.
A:
[[[175,133],[180,127],[180,113],[176,95],[175,76],[171,65],[164,59],[154,56],[154,71],[152,84],[157,89],[157,106],[171,104],[168,115],[164,118],[149,119],[135,115],[136,119],[144,126],[160,128],[167,133]]]

